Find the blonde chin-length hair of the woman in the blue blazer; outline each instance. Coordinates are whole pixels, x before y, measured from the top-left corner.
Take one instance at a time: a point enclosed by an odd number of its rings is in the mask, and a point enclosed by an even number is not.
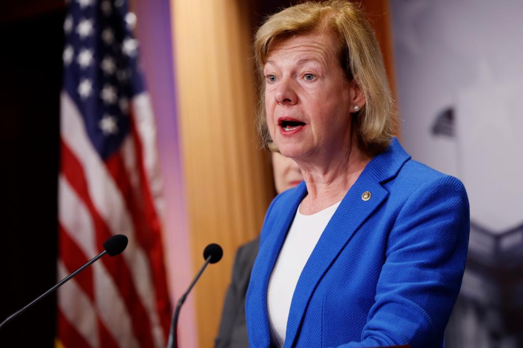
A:
[[[332,32],[339,39],[339,61],[348,79],[356,80],[366,103],[353,128],[358,145],[368,154],[377,154],[389,146],[395,135],[395,109],[383,57],[368,20],[358,5],[341,0],[306,2],[271,15],[258,28],[254,38],[254,59],[259,78],[260,99],[257,127],[261,146],[274,150],[265,111],[263,69],[271,44],[277,39],[310,32]]]

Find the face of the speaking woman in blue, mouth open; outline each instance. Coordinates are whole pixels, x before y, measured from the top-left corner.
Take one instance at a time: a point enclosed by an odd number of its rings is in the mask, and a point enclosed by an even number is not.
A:
[[[350,145],[350,112],[361,92],[345,77],[337,47],[333,34],[312,32],[276,41],[267,54],[267,125],[287,157],[314,160]]]

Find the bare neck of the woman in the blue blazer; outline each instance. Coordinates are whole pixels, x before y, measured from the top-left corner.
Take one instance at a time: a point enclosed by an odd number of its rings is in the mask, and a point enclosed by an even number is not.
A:
[[[311,215],[341,201],[371,160],[351,142],[346,151],[337,156],[324,157],[321,163],[299,163],[308,194],[300,206],[300,213]]]

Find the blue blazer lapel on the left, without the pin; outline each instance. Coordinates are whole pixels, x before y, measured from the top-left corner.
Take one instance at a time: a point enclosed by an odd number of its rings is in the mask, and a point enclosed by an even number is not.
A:
[[[249,341],[256,342],[257,347],[267,347],[270,345],[269,317],[267,312],[267,287],[270,274],[278,258],[287,231],[294,219],[300,202],[307,193],[305,182],[301,182],[291,195],[282,197],[282,202],[278,202],[278,212],[274,225],[267,233],[266,239],[260,243],[258,257],[253,266],[251,281],[249,282],[248,297],[253,300],[247,301],[251,310],[257,314],[250,317],[248,325]],[[284,200],[285,199],[285,200]],[[266,226],[264,226],[266,228]]]

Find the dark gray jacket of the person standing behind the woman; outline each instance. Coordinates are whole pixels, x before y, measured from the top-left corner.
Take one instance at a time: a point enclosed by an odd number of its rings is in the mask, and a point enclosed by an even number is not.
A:
[[[254,260],[258,254],[259,241],[258,237],[238,248],[236,252],[231,284],[225,295],[220,330],[215,339],[216,348],[249,346],[245,322],[245,295]]]

